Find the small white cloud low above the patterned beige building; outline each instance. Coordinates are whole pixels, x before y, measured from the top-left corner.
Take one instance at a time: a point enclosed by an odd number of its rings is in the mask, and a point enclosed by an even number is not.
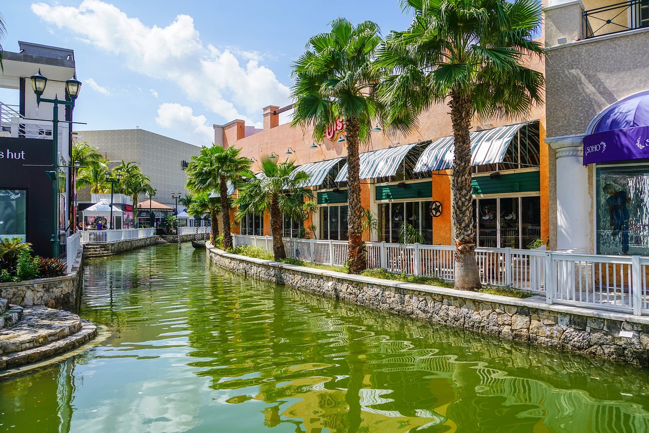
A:
[[[202,114],[194,116],[190,106],[164,103],[158,107],[156,123],[166,129],[186,132],[191,144],[209,146],[214,142],[213,127]]]

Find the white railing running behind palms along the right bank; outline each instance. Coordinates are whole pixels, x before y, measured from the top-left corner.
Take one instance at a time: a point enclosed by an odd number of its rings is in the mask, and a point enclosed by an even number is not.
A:
[[[272,251],[271,236],[233,234],[234,246]],[[347,262],[347,241],[284,238],[290,258],[330,266]],[[366,242],[367,267],[455,279],[455,248]],[[603,256],[511,248],[477,248],[482,284],[545,295],[546,303],[649,315],[649,257]]]

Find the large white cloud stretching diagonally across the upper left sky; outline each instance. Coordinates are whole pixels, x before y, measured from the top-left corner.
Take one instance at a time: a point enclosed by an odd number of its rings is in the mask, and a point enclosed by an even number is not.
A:
[[[289,88],[260,65],[262,55],[204,44],[188,15],[178,15],[166,27],[148,27],[100,0],[84,0],[78,8],[31,7],[45,23],[119,56],[133,71],[174,82],[190,101],[225,121],[260,119],[264,106],[288,103]]]

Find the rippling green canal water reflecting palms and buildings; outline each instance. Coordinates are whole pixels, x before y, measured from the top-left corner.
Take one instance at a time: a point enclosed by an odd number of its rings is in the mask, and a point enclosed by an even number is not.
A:
[[[112,336],[0,381],[0,432],[648,432],[649,369],[416,321],[206,265],[88,262]]]

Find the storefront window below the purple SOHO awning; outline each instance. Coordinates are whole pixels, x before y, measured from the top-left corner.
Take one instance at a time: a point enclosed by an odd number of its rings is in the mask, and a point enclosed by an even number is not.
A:
[[[598,254],[649,255],[649,165],[598,167]]]

